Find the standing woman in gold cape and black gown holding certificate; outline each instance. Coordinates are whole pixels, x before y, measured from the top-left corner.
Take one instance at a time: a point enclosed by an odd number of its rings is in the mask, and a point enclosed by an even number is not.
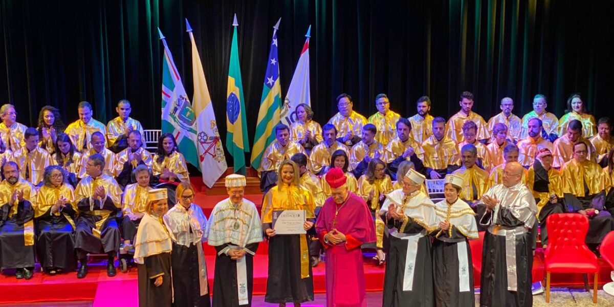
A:
[[[269,239],[270,263],[265,301],[281,307],[289,302],[300,306],[313,301],[306,231],[313,227],[315,206],[308,190],[298,184],[299,177],[296,163],[283,161],[278,184],[266,193],[262,204],[262,229]],[[297,227],[295,217],[303,218],[302,225]]]

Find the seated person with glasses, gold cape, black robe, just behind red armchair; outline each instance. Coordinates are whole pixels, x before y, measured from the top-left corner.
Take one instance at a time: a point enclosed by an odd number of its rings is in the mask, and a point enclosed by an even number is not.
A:
[[[567,211],[588,217],[586,244],[595,251],[605,235],[614,229],[614,222],[610,212],[604,210],[606,173],[588,159],[588,151],[586,142],[575,142],[573,158],[563,165],[561,175]]]

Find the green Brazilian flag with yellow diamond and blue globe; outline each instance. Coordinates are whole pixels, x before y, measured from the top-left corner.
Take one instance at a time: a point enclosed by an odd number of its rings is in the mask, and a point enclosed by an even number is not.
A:
[[[233,32],[230,49],[226,99],[226,125],[228,127],[226,148],[235,160],[235,173],[245,174],[245,152],[249,152],[249,141],[245,121],[245,98],[243,96],[243,82],[241,81],[241,66],[239,65],[239,46],[236,39],[236,27],[239,26],[236,21],[236,14],[233,26],[235,31]]]

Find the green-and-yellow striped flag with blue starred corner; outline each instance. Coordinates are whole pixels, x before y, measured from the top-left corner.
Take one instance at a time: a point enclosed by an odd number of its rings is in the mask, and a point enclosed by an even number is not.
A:
[[[279,123],[279,112],[281,110],[281,85],[279,81],[279,58],[277,56],[279,21],[281,21],[281,18],[273,27],[273,39],[271,40],[271,49],[268,61],[266,62],[265,81],[262,88],[262,98],[260,99],[254,148],[252,149],[252,168],[255,169],[260,168],[260,161],[262,161],[262,155],[266,147],[275,140],[275,134],[272,131],[273,127]]]

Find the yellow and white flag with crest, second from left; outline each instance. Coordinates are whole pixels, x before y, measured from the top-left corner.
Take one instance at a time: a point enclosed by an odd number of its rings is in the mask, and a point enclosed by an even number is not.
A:
[[[194,82],[192,106],[198,116],[196,117],[198,162],[200,171],[203,173],[203,182],[211,188],[228,166],[224,157],[222,141],[220,141],[220,133],[217,131],[216,115],[213,112],[209,88],[207,81],[204,79],[203,64],[200,61],[192,28],[187,18],[185,19],[185,26],[186,32],[190,34],[190,41],[192,41],[192,77]]]

